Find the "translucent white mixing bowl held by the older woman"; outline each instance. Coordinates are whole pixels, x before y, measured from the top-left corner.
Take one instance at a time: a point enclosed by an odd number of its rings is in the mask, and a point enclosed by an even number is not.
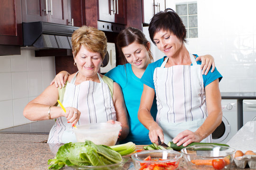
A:
[[[94,144],[112,146],[117,143],[119,131],[122,127],[115,123],[95,123],[88,125],[77,125],[73,128],[77,142],[90,140]]]

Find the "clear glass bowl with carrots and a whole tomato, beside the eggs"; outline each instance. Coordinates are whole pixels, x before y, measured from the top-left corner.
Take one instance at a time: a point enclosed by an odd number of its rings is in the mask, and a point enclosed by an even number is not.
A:
[[[181,150],[190,170],[228,170],[235,149],[214,144],[195,144]]]

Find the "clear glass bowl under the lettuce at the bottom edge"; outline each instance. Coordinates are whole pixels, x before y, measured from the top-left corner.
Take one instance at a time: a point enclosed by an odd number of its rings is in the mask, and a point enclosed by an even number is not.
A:
[[[123,160],[119,163],[114,163],[104,166],[70,166],[75,170],[126,170],[124,165],[129,160],[129,157],[123,157]]]

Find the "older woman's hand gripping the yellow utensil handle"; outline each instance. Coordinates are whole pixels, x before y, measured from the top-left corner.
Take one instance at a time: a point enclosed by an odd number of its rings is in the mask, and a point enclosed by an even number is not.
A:
[[[81,112],[73,107],[66,107],[66,112],[62,112],[61,116],[67,118],[67,122],[72,124],[72,127],[76,125],[80,118]]]

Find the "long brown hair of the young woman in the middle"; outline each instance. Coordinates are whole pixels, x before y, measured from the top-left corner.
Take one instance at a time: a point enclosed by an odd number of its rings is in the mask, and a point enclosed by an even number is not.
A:
[[[142,31],[138,30],[137,28],[128,27],[122,30],[117,37],[117,47],[119,54],[121,55],[122,63],[127,63],[122,48],[130,45],[133,42],[144,45],[148,50],[149,58],[151,61],[153,61],[152,53],[147,47],[148,40],[146,39],[145,34],[143,34]]]

